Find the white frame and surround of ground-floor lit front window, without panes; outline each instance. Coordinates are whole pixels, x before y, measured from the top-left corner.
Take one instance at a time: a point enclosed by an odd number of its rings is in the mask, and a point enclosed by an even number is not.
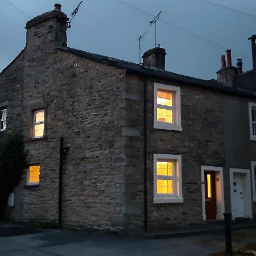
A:
[[[181,155],[169,154],[154,154],[154,204],[165,203],[183,203],[182,197],[182,179],[181,179]],[[171,179],[174,181],[174,194],[161,194],[156,193],[156,162],[158,160],[169,160],[174,163],[174,176],[161,176],[161,178]],[[159,176],[160,177],[160,176]]]

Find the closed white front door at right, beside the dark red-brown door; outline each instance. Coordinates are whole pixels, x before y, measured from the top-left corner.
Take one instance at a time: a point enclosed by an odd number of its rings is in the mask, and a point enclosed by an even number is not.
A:
[[[234,198],[234,216],[243,217],[243,184],[244,184],[244,174],[234,173],[233,179],[233,198]]]

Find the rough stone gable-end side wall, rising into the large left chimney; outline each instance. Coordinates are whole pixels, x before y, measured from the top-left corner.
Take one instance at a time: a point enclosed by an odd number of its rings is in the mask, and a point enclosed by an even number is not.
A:
[[[9,101],[2,136],[20,131],[28,162],[40,164],[38,186],[26,186],[24,171],[10,218],[57,222],[63,137],[69,147],[63,167],[63,226],[117,230],[125,225],[123,70],[57,51],[57,32],[55,18],[28,28],[27,47],[0,76],[0,100]],[[46,136],[31,139],[32,113],[40,108],[46,110]]]

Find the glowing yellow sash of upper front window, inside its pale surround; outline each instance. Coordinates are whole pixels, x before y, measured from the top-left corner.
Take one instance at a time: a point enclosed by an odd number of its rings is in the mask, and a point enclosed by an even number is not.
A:
[[[167,90],[157,91],[156,120],[159,122],[173,123],[174,95]]]

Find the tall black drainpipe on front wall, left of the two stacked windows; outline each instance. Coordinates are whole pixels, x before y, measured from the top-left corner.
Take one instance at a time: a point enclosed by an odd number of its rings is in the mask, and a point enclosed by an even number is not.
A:
[[[147,79],[144,77],[144,230],[147,231]]]

